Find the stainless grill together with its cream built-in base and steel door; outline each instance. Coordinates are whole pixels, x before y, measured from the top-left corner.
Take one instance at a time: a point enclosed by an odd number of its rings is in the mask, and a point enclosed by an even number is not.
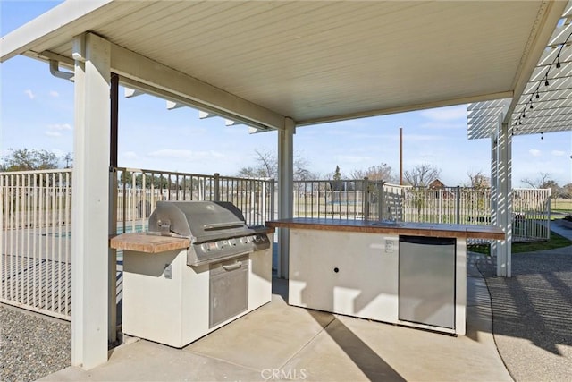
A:
[[[270,301],[273,233],[231,203],[159,201],[147,237],[157,235],[189,248],[124,250],[124,334],[182,347]]]

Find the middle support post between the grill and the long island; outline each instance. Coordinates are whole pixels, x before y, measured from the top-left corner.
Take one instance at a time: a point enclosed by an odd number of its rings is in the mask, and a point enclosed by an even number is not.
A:
[[[294,133],[296,124],[284,118],[284,129],[278,132],[278,218],[292,217],[294,178]],[[288,278],[290,259],[288,228],[278,229],[278,276]]]

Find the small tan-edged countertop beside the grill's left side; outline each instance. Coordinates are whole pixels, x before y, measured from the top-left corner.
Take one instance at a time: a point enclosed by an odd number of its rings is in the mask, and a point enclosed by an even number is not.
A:
[[[122,233],[109,240],[109,247],[114,250],[136,250],[144,253],[183,250],[189,246],[189,239],[146,233]]]

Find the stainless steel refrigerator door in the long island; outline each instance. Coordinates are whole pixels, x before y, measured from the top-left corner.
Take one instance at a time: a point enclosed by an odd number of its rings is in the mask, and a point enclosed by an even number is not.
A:
[[[400,320],[455,328],[455,239],[400,236]]]

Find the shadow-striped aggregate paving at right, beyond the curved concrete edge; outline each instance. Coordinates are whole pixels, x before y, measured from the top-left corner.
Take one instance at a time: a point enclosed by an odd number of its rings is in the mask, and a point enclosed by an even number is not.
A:
[[[511,278],[479,268],[491,294],[495,341],[513,378],[572,380],[572,246],[513,254]]]

